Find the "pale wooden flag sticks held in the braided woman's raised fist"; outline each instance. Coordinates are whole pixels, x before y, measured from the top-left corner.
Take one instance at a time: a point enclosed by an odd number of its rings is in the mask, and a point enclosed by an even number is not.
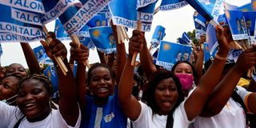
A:
[[[43,30],[46,34],[48,34],[48,30],[47,30],[46,26],[42,26],[42,30]],[[50,42],[51,42],[53,39],[52,39],[52,38],[45,38],[45,40],[46,40],[46,44],[49,46]],[[68,72],[68,70],[67,70],[67,68],[66,68],[66,66],[65,66],[65,64],[64,64],[64,62],[62,61],[62,58],[61,58],[61,57],[56,57],[56,56],[54,56],[54,59],[55,59],[55,61],[57,62],[58,66],[61,68],[62,73],[63,73],[64,75],[66,75],[66,72]]]

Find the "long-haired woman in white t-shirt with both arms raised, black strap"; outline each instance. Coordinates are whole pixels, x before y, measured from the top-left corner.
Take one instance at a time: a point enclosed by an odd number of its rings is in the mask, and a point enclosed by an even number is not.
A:
[[[142,32],[134,30],[133,36],[130,38],[126,66],[122,71],[118,88],[118,98],[122,110],[134,122],[134,127],[187,128],[190,121],[193,121],[202,112],[207,99],[216,86],[216,82],[218,82],[218,76],[221,74],[220,70],[215,69],[223,69],[225,60],[220,58],[226,57],[230,50],[230,44],[224,36],[224,30],[220,26],[217,26],[216,30],[220,45],[220,50],[217,53],[219,58],[214,58],[209,71],[202,77],[189,98],[184,101],[181,83],[171,71],[157,70],[148,83],[147,104],[138,102],[131,94],[134,66],[131,66],[130,63],[133,54],[142,49],[147,49],[146,39]]]

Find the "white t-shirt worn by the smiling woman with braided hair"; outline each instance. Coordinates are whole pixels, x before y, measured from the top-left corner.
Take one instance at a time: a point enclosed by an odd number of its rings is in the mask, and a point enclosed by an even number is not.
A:
[[[0,128],[13,128],[19,118],[22,118],[23,114],[17,106],[9,106],[4,102],[0,102]],[[81,112],[79,110],[79,117],[74,128],[78,128],[81,122]],[[22,119],[22,122],[18,128],[71,128],[60,114],[59,110],[51,110],[51,113],[40,122],[28,122],[26,118]]]

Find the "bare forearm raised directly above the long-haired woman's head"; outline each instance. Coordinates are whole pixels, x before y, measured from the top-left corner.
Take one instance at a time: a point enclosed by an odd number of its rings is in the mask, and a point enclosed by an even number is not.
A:
[[[139,53],[141,59],[142,69],[146,74],[146,78],[150,78],[157,68],[154,66],[153,59],[151,57],[150,51],[146,46],[146,38],[143,38],[143,47],[141,52]]]

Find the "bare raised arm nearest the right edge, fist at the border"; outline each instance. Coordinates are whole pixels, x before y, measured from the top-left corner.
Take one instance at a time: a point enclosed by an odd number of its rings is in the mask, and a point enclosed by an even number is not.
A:
[[[222,111],[226,102],[230,99],[235,86],[237,86],[242,74],[245,74],[250,67],[256,64],[256,52],[253,49],[246,50],[240,55],[235,66],[226,74],[225,78],[219,82],[216,90],[210,96],[206,103],[205,110],[202,113],[204,117],[214,116]],[[254,113],[256,112],[256,95],[250,94],[248,97],[248,107]]]

